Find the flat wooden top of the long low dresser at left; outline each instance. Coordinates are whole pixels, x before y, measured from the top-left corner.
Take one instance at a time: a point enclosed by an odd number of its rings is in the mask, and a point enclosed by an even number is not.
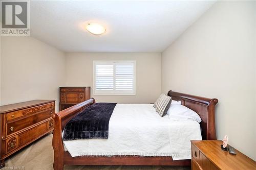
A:
[[[8,112],[25,109],[25,108],[33,107],[37,105],[42,105],[50,102],[55,102],[55,101],[54,100],[33,100],[33,101],[15,103],[10,105],[4,105],[4,106],[0,106],[0,113],[8,113]]]

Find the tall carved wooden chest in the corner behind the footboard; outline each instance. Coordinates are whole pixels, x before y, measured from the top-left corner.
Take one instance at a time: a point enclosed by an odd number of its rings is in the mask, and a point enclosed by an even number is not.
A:
[[[59,87],[59,111],[91,98],[91,87]]]

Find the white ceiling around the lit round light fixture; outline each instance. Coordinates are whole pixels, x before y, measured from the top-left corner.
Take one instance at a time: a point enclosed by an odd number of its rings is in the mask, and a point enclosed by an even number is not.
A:
[[[64,52],[162,52],[214,1],[31,1],[31,36]],[[88,21],[106,32],[95,36]]]

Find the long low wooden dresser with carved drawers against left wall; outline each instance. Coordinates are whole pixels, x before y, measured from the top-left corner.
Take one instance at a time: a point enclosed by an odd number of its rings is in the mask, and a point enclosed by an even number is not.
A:
[[[0,160],[5,159],[54,128],[53,100],[34,100],[0,106]]]

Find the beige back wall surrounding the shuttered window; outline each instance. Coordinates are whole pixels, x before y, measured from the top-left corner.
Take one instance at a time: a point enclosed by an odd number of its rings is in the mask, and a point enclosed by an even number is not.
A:
[[[93,95],[94,60],[136,60],[136,95]],[[91,86],[96,102],[153,103],[161,93],[160,53],[69,53],[66,85]]]

